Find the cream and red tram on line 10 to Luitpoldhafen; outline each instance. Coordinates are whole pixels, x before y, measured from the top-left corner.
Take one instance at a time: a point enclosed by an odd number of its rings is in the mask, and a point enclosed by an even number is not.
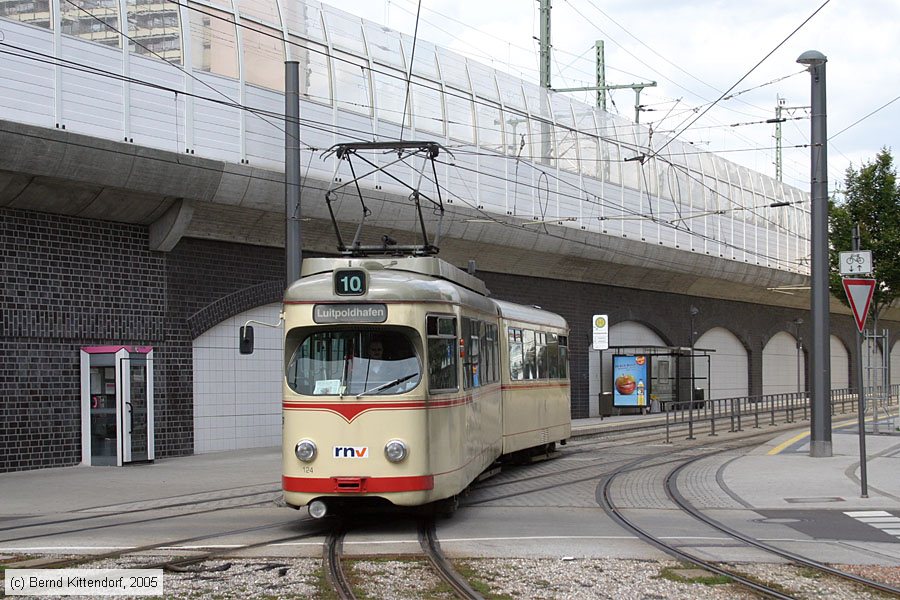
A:
[[[565,321],[487,293],[435,257],[304,261],[284,298],[288,505],[454,498],[569,437]]]

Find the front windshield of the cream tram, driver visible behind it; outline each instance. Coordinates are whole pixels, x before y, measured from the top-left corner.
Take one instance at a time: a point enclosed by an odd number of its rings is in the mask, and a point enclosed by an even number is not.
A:
[[[288,386],[305,396],[402,394],[421,378],[413,341],[401,331],[316,331],[300,341],[287,366]]]

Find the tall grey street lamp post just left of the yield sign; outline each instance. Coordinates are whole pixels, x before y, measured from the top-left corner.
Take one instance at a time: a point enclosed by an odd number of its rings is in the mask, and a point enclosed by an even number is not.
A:
[[[825,110],[825,55],[808,50],[797,58],[811,76],[811,259],[810,309],[810,424],[809,455],[830,457],[831,448],[831,351],[828,302],[828,141]]]

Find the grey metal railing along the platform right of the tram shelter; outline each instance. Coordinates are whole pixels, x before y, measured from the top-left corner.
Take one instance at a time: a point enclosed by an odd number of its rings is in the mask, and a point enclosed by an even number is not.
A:
[[[875,399],[881,407],[894,406],[900,399],[900,384],[888,388],[865,388],[865,397]],[[856,412],[859,393],[856,388],[831,390],[831,414]],[[868,404],[868,403],[867,403]],[[661,412],[666,415],[666,442],[672,431],[686,429],[687,439],[694,438],[694,425],[708,425],[710,436],[718,435],[716,427],[727,427],[728,431],[743,431],[751,426],[759,429],[763,424],[774,426],[779,421],[794,423],[809,420],[810,402],[808,392],[767,394],[760,396],[737,396],[709,400],[669,400],[660,403]],[[877,428],[876,428],[877,431]]]

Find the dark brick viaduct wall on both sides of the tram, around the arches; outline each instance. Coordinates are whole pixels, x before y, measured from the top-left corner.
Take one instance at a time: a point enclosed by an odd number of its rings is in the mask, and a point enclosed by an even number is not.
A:
[[[779,331],[809,339],[807,311],[610,286],[479,273],[496,298],[559,313],[571,328],[572,415],[588,415],[591,315],[636,321],[667,344],[725,327],[749,356],[750,393],[762,390],[761,353]],[[155,348],[156,455],[193,451],[193,339],[227,317],[278,301],[279,248],[184,239],[149,250],[147,228],[0,209],[0,472],[81,460],[82,346]],[[855,353],[850,317],[832,333]],[[882,323],[900,335],[900,324]],[[615,340],[612,342],[615,344]]]

